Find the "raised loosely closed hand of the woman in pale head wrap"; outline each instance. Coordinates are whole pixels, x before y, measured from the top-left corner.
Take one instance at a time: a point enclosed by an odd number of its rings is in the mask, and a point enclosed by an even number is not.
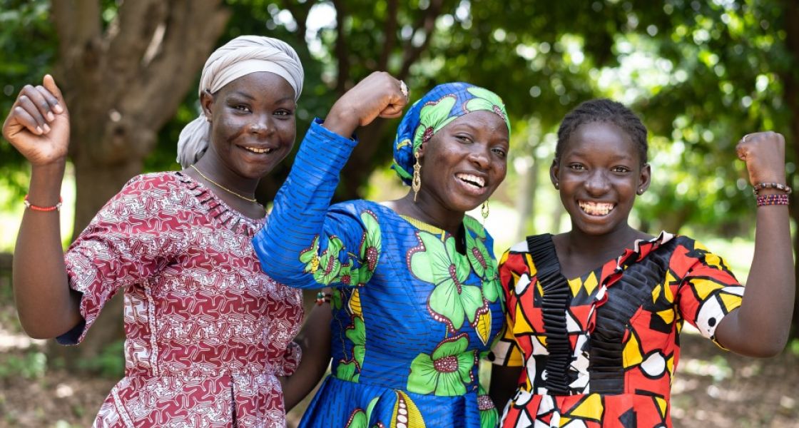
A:
[[[2,135],[34,166],[66,160],[70,113],[50,74],[43,86],[22,88],[2,125]]]

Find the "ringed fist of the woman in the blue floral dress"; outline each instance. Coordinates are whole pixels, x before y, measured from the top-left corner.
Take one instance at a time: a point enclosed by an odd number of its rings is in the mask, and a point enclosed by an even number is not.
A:
[[[366,126],[377,117],[402,116],[407,97],[400,81],[391,74],[376,71],[344,93],[330,109],[324,127],[349,137],[358,126]]]

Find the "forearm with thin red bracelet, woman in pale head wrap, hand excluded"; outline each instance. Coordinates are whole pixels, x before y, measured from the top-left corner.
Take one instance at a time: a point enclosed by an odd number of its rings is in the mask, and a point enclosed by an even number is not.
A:
[[[30,204],[58,204],[63,175],[64,162],[34,167]],[[14,248],[14,299],[31,337],[53,338],[80,321],[79,298],[67,282],[58,211],[25,210]]]

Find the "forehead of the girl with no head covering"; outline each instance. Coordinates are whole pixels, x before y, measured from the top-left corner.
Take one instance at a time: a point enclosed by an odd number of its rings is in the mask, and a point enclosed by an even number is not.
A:
[[[638,159],[638,146],[624,129],[611,122],[595,121],[578,126],[571,133],[562,151],[563,157],[570,155]]]

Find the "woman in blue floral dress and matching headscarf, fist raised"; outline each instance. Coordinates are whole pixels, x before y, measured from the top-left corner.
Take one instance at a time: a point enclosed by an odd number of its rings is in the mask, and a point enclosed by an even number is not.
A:
[[[503,324],[493,240],[465,212],[505,177],[510,123],[494,93],[436,86],[409,109],[394,164],[399,200],[331,205],[339,174],[374,118],[398,117],[407,88],[373,73],[308,130],[253,243],[264,271],[332,287],[332,374],[302,426],[496,425],[479,359]],[[483,205],[483,212],[487,206]]]

